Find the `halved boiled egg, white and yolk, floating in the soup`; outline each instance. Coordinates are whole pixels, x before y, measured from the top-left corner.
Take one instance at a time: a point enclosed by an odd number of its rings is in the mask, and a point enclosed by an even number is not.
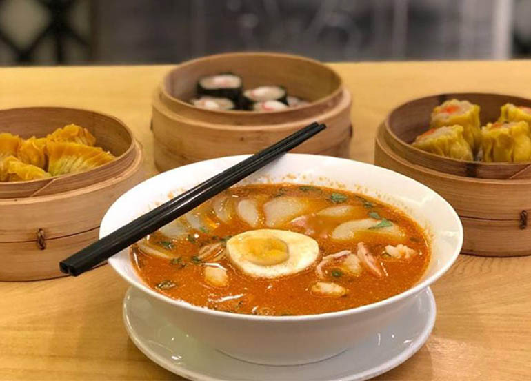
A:
[[[227,241],[227,256],[252,277],[275,278],[303,271],[319,257],[319,244],[301,233],[258,229]]]

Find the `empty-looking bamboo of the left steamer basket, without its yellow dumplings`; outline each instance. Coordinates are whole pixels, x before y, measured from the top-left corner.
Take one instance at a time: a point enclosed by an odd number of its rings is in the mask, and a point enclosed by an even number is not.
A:
[[[83,173],[0,183],[0,280],[64,275],[59,261],[97,240],[108,207],[143,179],[141,146],[114,117],[59,107],[0,111],[0,131],[23,138],[71,123],[90,130],[117,159]]]

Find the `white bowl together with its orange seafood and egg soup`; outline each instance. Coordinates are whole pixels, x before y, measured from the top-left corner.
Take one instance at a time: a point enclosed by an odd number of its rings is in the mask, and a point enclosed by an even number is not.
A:
[[[100,235],[246,157],[148,179],[112,205]],[[399,319],[462,242],[459,217],[430,188],[370,164],[288,154],[109,263],[170,324],[215,349],[303,364]]]

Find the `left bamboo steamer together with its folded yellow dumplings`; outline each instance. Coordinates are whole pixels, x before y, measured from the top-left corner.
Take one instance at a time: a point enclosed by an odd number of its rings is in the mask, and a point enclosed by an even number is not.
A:
[[[0,280],[62,276],[59,260],[97,240],[107,208],[142,180],[141,163],[114,117],[0,110]]]

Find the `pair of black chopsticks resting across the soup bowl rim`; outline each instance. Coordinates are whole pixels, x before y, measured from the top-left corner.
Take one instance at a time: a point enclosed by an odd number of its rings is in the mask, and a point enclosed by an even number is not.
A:
[[[324,124],[315,122],[302,128],[297,133],[285,137],[285,139],[276,144],[211,177],[206,182],[181,193],[181,195],[134,219],[132,222],[117,229],[117,231],[94,242],[94,244],[83,248],[81,251],[66,258],[66,260],[61,261],[59,268],[63,273],[74,276],[90,270],[90,268],[118,253],[123,248],[127,248],[134,242],[146,237],[146,235],[157,231],[177,217],[191,211],[196,206],[214,197],[214,195],[246,178],[288,150],[299,146],[303,141],[310,139],[310,137],[325,128]]]

